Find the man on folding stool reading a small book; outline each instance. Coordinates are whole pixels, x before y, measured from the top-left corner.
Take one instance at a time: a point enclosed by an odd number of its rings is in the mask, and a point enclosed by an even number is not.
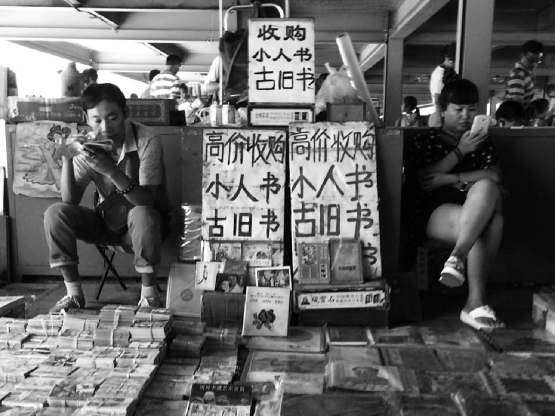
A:
[[[171,210],[162,145],[146,126],[127,120],[125,97],[115,85],[90,85],[81,104],[92,131],[62,144],[62,202],[44,213],[50,266],[60,268],[67,287],[52,311],[85,305],[77,239],[132,246],[142,277],[139,305],[158,307],[156,271]],[[94,209],[79,205],[91,181],[100,200]]]

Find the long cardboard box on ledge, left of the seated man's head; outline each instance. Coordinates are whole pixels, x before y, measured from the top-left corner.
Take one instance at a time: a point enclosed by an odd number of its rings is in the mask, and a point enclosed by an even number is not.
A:
[[[8,121],[22,123],[39,120],[81,123],[84,116],[80,98],[8,97]]]

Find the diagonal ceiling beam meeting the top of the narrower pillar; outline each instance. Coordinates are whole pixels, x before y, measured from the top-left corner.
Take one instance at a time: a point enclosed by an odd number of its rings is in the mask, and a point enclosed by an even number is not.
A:
[[[390,39],[404,39],[436,14],[449,0],[403,0],[391,14]]]

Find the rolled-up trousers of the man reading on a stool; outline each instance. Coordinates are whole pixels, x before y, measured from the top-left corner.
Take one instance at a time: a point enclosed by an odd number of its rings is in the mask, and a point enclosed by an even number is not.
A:
[[[127,217],[127,232],[111,234],[97,211],[80,206],[51,205],[44,212],[44,231],[50,250],[50,267],[77,265],[77,240],[99,245],[130,245],[135,253],[135,270],[154,273],[160,263],[163,221],[150,206],[135,206]]]

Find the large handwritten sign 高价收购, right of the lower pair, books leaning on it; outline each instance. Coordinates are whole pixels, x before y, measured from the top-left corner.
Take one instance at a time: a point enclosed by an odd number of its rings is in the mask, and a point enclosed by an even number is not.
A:
[[[374,124],[289,125],[293,270],[296,245],[361,240],[365,280],[381,276]]]

